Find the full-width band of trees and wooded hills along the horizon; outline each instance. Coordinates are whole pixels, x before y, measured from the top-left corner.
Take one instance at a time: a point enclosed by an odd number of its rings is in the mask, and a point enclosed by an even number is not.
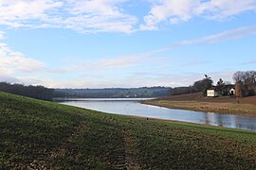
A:
[[[235,82],[234,85],[231,84],[230,82],[225,82],[222,78],[220,78],[216,83],[216,85],[214,86],[214,89],[221,95],[229,95],[229,89],[235,87],[235,94],[237,98],[256,94],[256,71],[246,71],[246,72],[238,71],[233,74],[233,80]],[[211,77],[208,75],[205,75],[204,78],[193,82],[191,86],[170,88],[168,89],[168,91],[167,91],[167,88],[163,88],[163,87],[162,88],[146,88],[146,90],[150,91],[149,96],[164,96],[166,95],[166,91],[169,96],[184,94],[184,93],[199,93],[199,92],[201,92],[204,96],[206,96],[207,90],[209,90],[212,87],[213,87],[213,81]],[[120,95],[120,92],[122,92],[123,96],[125,96],[127,95],[127,93],[125,92],[128,91],[127,89],[123,89],[123,90],[110,89],[110,90],[111,90],[111,96],[112,95],[116,96],[118,94]],[[110,90],[106,89],[103,91],[108,92]],[[135,93],[138,93],[141,95],[143,94],[142,90],[145,90],[145,88],[135,89]],[[53,97],[65,97],[72,94],[83,94],[86,96],[89,94],[90,94],[89,96],[91,96],[92,94],[97,94],[98,97],[101,96],[101,94],[103,94],[102,90],[86,90],[86,91],[82,90],[82,92],[81,90],[58,90],[58,89],[54,90],[54,89],[46,88],[44,86],[32,86],[32,85],[25,86],[22,84],[10,84],[7,82],[0,82],[0,91],[6,92],[6,93],[24,95],[27,97],[32,97],[32,98],[42,99],[42,100],[52,100]],[[110,94],[108,93],[107,96],[109,95]]]

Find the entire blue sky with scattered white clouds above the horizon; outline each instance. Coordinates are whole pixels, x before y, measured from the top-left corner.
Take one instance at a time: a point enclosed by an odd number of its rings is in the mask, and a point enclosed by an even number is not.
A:
[[[256,70],[256,0],[0,0],[0,81],[188,86]]]

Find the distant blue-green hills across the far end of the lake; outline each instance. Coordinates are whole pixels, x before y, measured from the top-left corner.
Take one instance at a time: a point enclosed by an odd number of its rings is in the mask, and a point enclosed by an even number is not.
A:
[[[160,97],[167,96],[168,87],[106,88],[106,89],[56,89],[56,97]]]

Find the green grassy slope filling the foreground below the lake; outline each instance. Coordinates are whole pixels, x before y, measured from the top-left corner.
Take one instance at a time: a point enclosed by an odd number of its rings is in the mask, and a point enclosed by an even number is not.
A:
[[[0,93],[0,169],[256,168],[256,133],[83,110]]]

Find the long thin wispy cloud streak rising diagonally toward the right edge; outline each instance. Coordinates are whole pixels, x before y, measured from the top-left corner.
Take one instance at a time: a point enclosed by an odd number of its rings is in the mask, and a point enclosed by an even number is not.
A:
[[[75,60],[68,59],[67,64],[64,67],[56,70],[51,70],[53,74],[65,74],[78,71],[95,72],[95,71],[106,71],[111,69],[125,69],[129,67],[137,67],[140,65],[146,65],[152,62],[165,62],[167,59],[159,57],[158,54],[164,51],[172,50],[184,45],[192,44],[210,44],[219,42],[229,42],[232,40],[242,39],[248,36],[256,35],[256,26],[243,26],[235,29],[230,29],[217,34],[212,34],[198,39],[184,40],[181,42],[174,42],[165,47],[148,51],[144,53],[138,53],[134,55],[120,56],[116,58],[101,58],[101,59],[89,59],[89,60]],[[170,59],[170,57],[168,57]],[[192,63],[184,63],[183,66],[192,66],[202,64],[202,61],[195,61]]]

